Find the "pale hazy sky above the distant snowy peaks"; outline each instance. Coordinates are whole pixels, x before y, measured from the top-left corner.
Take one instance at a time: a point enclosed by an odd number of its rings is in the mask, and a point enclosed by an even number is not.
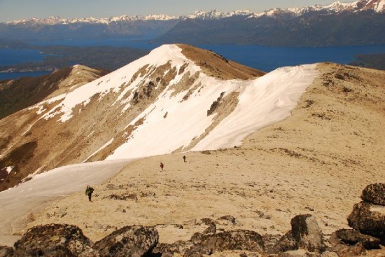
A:
[[[335,0],[336,1],[336,0]],[[0,22],[25,18],[109,18],[117,15],[188,15],[198,10],[221,12],[327,5],[333,0],[0,0]],[[346,0],[344,2],[351,2]]]

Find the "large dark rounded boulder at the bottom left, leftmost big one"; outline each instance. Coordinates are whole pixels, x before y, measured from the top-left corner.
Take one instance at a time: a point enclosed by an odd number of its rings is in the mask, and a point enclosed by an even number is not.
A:
[[[75,225],[38,225],[15,242],[13,256],[97,256],[91,246]]]

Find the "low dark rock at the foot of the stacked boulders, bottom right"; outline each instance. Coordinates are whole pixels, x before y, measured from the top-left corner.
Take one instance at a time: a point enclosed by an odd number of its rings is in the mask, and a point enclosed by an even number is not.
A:
[[[380,249],[380,240],[370,235],[363,235],[358,230],[340,229],[332,233],[329,239],[332,246],[338,244],[356,245],[363,244],[365,249]]]

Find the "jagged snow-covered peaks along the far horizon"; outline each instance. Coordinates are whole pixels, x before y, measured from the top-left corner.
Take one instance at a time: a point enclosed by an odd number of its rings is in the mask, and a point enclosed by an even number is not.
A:
[[[231,11],[222,13],[217,10],[212,11],[196,11],[191,15],[185,16],[169,16],[169,15],[121,15],[111,18],[76,18],[76,19],[65,19],[59,17],[48,17],[45,19],[25,19],[25,20],[15,20],[11,22],[6,22],[7,25],[31,25],[31,24],[41,24],[41,25],[70,25],[75,23],[89,23],[89,24],[104,24],[109,25],[111,23],[116,22],[127,22],[127,21],[137,21],[137,20],[186,20],[186,19],[199,19],[199,20],[218,20],[222,18],[230,18],[234,16],[248,16],[248,18],[258,18],[261,16],[272,16],[280,13],[289,13],[292,15],[302,15],[303,13],[307,13],[309,11],[328,11],[330,13],[339,13],[343,11],[366,11],[373,10],[377,13],[381,13],[385,11],[385,0],[358,0],[353,1],[351,3],[344,3],[342,1],[336,1],[327,6],[314,5],[314,6],[306,6],[303,8],[293,7],[287,9],[281,8],[272,8],[269,11],[265,11],[262,13],[253,13],[252,11]]]

